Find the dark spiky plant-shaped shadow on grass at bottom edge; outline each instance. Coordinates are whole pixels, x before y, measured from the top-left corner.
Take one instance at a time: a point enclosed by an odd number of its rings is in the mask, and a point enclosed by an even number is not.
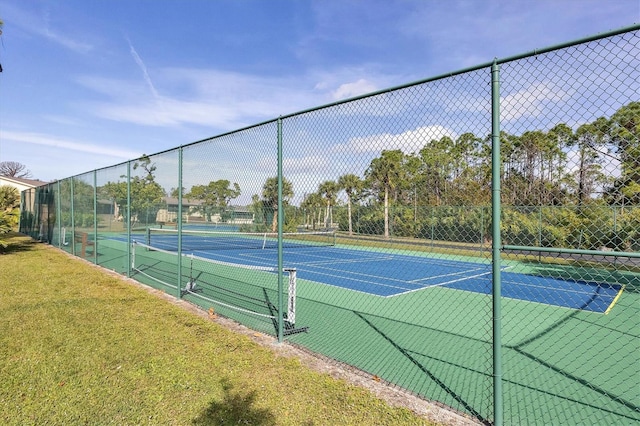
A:
[[[192,420],[195,426],[208,425],[258,425],[276,424],[276,416],[271,410],[254,407],[256,392],[241,393],[234,391],[228,379],[222,380],[224,399],[212,401],[207,408]]]

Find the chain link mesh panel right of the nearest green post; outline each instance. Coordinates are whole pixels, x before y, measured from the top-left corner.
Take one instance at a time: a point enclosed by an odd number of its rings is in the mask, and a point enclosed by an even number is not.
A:
[[[531,285],[555,278],[566,291],[541,297],[569,307],[503,302],[515,424],[640,419],[638,41],[630,32],[501,67],[502,238],[522,246],[506,251],[509,265]]]

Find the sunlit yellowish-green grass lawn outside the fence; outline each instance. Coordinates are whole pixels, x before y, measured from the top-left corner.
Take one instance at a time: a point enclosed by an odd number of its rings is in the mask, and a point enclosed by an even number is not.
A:
[[[0,254],[0,423],[432,424],[28,238]]]

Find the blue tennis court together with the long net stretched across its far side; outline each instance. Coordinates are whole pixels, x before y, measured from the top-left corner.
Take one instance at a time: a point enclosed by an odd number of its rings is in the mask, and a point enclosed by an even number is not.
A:
[[[176,250],[177,234],[152,230],[153,247]],[[390,253],[333,245],[331,233],[300,233],[285,237],[285,267],[295,268],[299,279],[380,297],[397,297],[433,287],[491,294],[489,263],[431,258],[419,253]],[[183,254],[240,267],[277,265],[276,235],[238,232],[183,233]],[[507,298],[569,309],[605,313],[623,286],[607,282],[563,280],[514,272],[504,266],[502,294]]]

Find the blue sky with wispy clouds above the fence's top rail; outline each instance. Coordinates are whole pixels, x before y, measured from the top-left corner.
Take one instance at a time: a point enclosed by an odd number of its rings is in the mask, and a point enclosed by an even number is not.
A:
[[[61,179],[640,22],[640,0],[0,0],[0,161]]]

